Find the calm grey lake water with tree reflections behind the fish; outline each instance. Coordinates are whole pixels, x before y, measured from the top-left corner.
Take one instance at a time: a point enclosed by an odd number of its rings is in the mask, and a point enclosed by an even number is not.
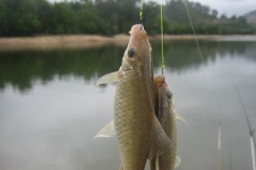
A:
[[[256,41],[165,42],[166,77],[186,170],[251,170],[256,125]],[[155,73],[161,48],[153,42]],[[93,140],[113,119],[115,84],[95,81],[121,65],[126,47],[0,53],[0,169],[114,170],[115,138]],[[219,143],[219,146],[218,146]],[[219,150],[218,150],[219,147]],[[147,166],[148,169],[148,166]]]

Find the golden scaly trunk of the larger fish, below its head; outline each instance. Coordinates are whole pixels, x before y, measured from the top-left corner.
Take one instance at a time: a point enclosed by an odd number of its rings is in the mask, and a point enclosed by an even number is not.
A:
[[[130,76],[123,77],[120,83],[117,83],[114,122],[124,170],[134,167],[141,170],[144,169],[148,158],[150,143],[148,128],[151,127],[152,111],[148,107],[149,100],[146,90],[143,90],[145,89],[143,83],[138,81],[140,75],[132,71],[129,74]],[[129,92],[124,94],[124,91]]]

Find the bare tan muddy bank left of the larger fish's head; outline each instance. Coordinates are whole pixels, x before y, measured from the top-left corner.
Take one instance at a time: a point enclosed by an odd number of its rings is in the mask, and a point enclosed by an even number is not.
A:
[[[53,35],[0,38],[0,50],[54,50],[93,48],[115,42],[127,42],[127,35]]]

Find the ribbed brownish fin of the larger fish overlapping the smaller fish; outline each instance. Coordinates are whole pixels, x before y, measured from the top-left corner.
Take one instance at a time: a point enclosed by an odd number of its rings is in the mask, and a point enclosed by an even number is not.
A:
[[[160,122],[154,116],[153,129],[150,142],[150,151],[148,158],[149,160],[154,157],[161,155],[164,151],[172,148],[172,142],[169,137],[165,134]]]

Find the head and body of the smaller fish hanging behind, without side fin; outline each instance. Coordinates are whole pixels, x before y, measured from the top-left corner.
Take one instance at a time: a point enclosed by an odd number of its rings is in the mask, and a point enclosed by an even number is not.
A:
[[[174,110],[172,92],[169,89],[167,81],[163,75],[156,76],[154,79],[156,116],[160,121],[164,132],[172,140],[172,148],[164,151],[163,154],[156,158],[160,170],[173,170],[179,166],[180,160],[177,155],[177,129],[176,129],[176,112]],[[177,159],[177,160],[176,160]]]

